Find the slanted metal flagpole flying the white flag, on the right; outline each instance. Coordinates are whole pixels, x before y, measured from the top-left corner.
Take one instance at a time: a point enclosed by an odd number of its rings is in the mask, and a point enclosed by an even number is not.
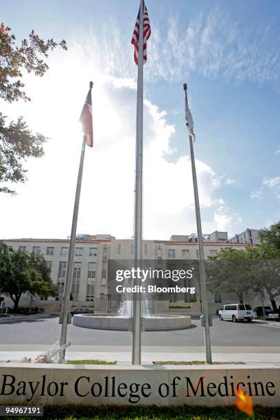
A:
[[[187,84],[184,83],[185,91],[185,117],[187,121]],[[194,203],[196,206],[196,226],[198,231],[198,252],[199,252],[199,267],[200,267],[200,288],[201,288],[201,299],[202,299],[202,313],[204,315],[204,329],[205,329],[205,351],[206,351],[206,362],[212,363],[211,355],[211,341],[210,341],[210,328],[209,328],[209,310],[208,310],[208,298],[206,288],[206,273],[205,273],[205,259],[202,242],[202,229],[201,229],[201,218],[200,218],[200,206],[198,198],[198,180],[196,178],[196,163],[194,161],[194,146],[192,136],[189,135],[189,149],[191,153],[191,170],[194,183]]]

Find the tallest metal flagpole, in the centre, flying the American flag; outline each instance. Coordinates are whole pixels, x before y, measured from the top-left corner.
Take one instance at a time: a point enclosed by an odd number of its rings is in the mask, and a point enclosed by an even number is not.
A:
[[[137,75],[137,122],[135,155],[135,226],[134,226],[134,266],[137,268],[142,259],[142,207],[143,207],[143,0],[139,14],[139,51]],[[138,285],[135,279],[134,285]],[[133,294],[132,299],[132,364],[141,364],[141,293]]]

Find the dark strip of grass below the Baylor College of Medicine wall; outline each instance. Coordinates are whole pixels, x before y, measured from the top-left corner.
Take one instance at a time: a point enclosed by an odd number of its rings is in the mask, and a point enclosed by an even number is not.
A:
[[[131,406],[102,406],[102,407],[45,407],[44,420],[279,420],[280,408],[264,408],[255,406],[253,417],[231,407],[131,407]],[[10,420],[38,420],[38,417],[5,417]]]

